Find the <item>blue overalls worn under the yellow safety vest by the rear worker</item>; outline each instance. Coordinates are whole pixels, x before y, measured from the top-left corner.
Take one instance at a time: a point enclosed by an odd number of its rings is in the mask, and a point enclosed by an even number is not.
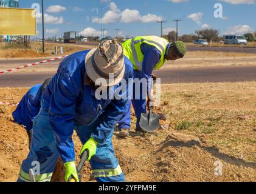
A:
[[[170,48],[171,44],[168,44],[167,48]],[[142,44],[140,46],[140,49],[142,50],[142,53],[144,54],[144,59],[142,62],[142,71],[134,70],[134,79],[147,79],[148,87],[150,87],[150,83],[148,82],[148,79],[151,78],[151,75],[154,71],[154,68],[159,63],[159,60],[161,59],[161,52],[159,52],[156,47],[149,44]],[[168,50],[168,49],[167,49]],[[123,114],[122,118],[118,122],[118,128],[119,130],[122,129],[130,129],[131,128],[131,103],[133,104],[133,109],[135,112],[135,116],[137,118],[136,122],[136,129],[140,129],[139,121],[140,121],[140,115],[141,113],[147,113],[147,102],[146,99],[143,98],[143,96],[147,96],[147,93],[143,93],[142,86],[140,87],[140,99],[135,99],[135,93],[138,91],[135,91],[136,88],[133,87],[133,100],[131,100],[126,109],[126,113]]]

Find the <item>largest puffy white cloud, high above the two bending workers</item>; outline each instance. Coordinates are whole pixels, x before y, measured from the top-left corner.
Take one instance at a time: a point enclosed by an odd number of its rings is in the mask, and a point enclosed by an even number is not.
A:
[[[121,11],[117,7],[117,5],[114,2],[110,2],[109,4],[109,10],[105,13],[103,18],[92,18],[92,22],[98,22],[101,21],[104,24],[112,23],[112,22],[123,22],[123,23],[131,23],[131,22],[156,22],[162,20],[162,16],[157,16],[148,13],[148,15],[140,15],[139,10],[130,10],[126,8],[125,10]]]

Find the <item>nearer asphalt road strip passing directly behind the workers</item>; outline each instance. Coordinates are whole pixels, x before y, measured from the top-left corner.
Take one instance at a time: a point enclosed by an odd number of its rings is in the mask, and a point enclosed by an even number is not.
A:
[[[0,75],[0,87],[31,87],[54,75],[52,73],[5,73]],[[256,66],[200,67],[161,69],[156,72],[162,84],[187,82],[256,81]]]

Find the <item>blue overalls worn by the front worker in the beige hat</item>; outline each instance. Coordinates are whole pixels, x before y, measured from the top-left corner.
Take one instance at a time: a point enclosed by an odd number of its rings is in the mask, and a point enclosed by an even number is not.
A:
[[[120,87],[109,88],[108,99],[95,98],[95,89],[86,84],[85,56],[88,50],[74,53],[61,62],[58,72],[43,92],[41,109],[33,120],[32,145],[22,162],[18,181],[29,181],[33,161],[40,164],[36,181],[50,181],[58,155],[62,161],[75,161],[74,129],[82,144],[89,138],[98,142],[96,155],[90,164],[97,181],[125,181],[125,176],[114,156],[112,134],[114,125],[126,112],[127,98],[118,99]],[[125,58],[125,75],[133,78],[133,65]],[[114,95],[113,95],[114,93]],[[118,99],[118,100],[117,100]]]

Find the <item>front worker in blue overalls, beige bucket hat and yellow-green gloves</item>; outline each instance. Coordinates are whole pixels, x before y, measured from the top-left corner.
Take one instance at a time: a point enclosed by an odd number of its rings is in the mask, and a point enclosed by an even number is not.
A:
[[[122,45],[116,40],[67,56],[43,92],[40,112],[33,119],[30,152],[22,162],[18,181],[30,181],[29,170],[35,168],[35,161],[40,164],[36,181],[50,181],[58,155],[66,169],[65,181],[71,176],[79,181],[72,141],[74,129],[83,144],[80,155],[85,150],[89,152],[94,178],[125,181],[114,156],[112,135],[131,96],[128,84],[120,83],[128,83],[130,78],[133,65],[123,56]]]

